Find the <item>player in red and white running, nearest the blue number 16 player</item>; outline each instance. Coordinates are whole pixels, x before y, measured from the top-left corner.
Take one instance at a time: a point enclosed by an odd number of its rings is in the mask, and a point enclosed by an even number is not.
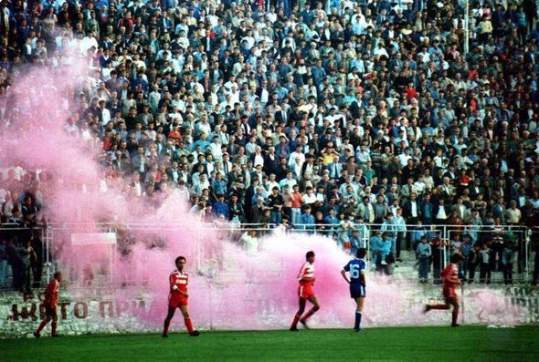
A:
[[[303,266],[301,266],[300,274],[298,274],[298,281],[300,282],[300,287],[298,289],[298,295],[300,296],[300,309],[298,309],[298,312],[294,316],[294,320],[292,322],[291,331],[296,332],[298,330],[298,322],[301,322],[301,324],[309,329],[309,326],[307,326],[307,319],[311,317],[311,315],[315,314],[317,310],[320,309],[320,304],[318,303],[318,298],[314,294],[314,252],[308,252],[305,255],[305,259],[307,261]],[[312,303],[312,308],[307,312],[305,315],[301,317],[303,312],[305,311],[305,305],[307,304],[307,301]]]

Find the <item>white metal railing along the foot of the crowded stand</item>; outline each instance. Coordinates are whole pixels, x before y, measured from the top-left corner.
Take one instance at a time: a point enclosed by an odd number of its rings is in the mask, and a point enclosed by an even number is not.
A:
[[[454,251],[451,239],[459,233],[470,234],[473,243],[482,243],[491,240],[493,235],[502,240],[512,239],[517,255],[518,272],[523,275],[524,281],[530,281],[532,274],[532,238],[539,236],[539,228],[527,228],[515,225],[488,225],[488,226],[455,226],[455,225],[400,225],[395,227],[384,223],[357,223],[349,222],[343,224],[294,224],[283,226],[274,223],[238,223],[238,222],[205,222],[202,226],[183,225],[179,223],[48,223],[46,227],[40,228],[41,240],[43,241],[42,261],[44,274],[50,280],[54,270],[57,269],[58,262],[55,258],[54,250],[61,240],[66,240],[71,233],[160,233],[169,231],[182,231],[186,229],[196,230],[198,233],[218,232],[220,237],[230,241],[238,241],[241,235],[248,230],[257,230],[260,233],[271,233],[273,229],[280,228],[284,233],[312,233],[320,234],[335,240],[340,246],[344,246],[346,240],[350,240],[354,231],[358,231],[359,243],[354,243],[355,247],[365,247],[368,251],[367,262],[373,262],[372,239],[375,233],[387,231],[390,237],[400,238],[403,251],[415,251],[415,245],[422,234],[427,234],[429,239],[436,239],[439,243],[439,267],[443,269],[449,263],[449,255]],[[29,228],[0,228],[1,233],[14,233],[17,231],[31,231]],[[400,235],[398,235],[400,233]],[[461,240],[461,238],[460,238]],[[205,250],[203,243],[198,243],[198,266],[205,264]],[[348,246],[348,245],[346,245]],[[392,252],[396,252],[395,249]]]

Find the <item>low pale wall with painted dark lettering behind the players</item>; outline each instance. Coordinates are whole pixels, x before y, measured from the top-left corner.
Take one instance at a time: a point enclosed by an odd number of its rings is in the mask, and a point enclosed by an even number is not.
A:
[[[369,301],[365,315],[373,326],[447,326],[447,313],[423,315],[426,303],[440,303],[439,287],[432,285],[382,284],[383,287],[397,290],[398,301],[392,300],[396,313],[388,313],[387,292],[374,290],[371,283]],[[395,289],[396,288],[396,289]],[[290,316],[297,307],[291,300],[286,308],[275,300],[256,297],[257,284],[209,284],[197,283],[191,293],[191,315],[196,328],[212,329],[287,329]],[[339,292],[343,292],[339,290]],[[58,333],[64,336],[84,334],[122,334],[122,333],[159,333],[166,314],[166,295],[151,295],[143,288],[125,288],[118,293],[95,293],[86,288],[60,290],[58,299]],[[343,315],[321,313],[314,318],[314,326],[343,328],[350,324],[347,320],[352,301],[345,293],[342,295]],[[238,314],[229,308],[230,297],[242,300],[249,306],[246,315]],[[492,285],[488,290],[480,285],[467,287],[462,298],[466,305],[466,324],[515,326],[539,323],[539,292],[526,285]],[[33,337],[32,332],[44,318],[41,305],[42,294],[22,295],[16,292],[0,294],[0,338]],[[322,303],[325,302],[322,300]],[[326,304],[327,305],[327,304]],[[464,313],[464,311],[462,311]],[[245,324],[245,325],[242,325]],[[238,326],[239,324],[239,326]],[[182,322],[174,319],[174,332],[184,332]],[[47,330],[48,333],[48,330]]]

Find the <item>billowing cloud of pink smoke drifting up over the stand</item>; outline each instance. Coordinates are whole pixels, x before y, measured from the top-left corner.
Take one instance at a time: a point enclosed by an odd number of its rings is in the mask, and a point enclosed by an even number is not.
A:
[[[100,141],[73,138],[64,130],[67,119],[72,116],[70,109],[76,109],[74,95],[87,87],[85,83],[95,81],[88,78],[88,70],[80,63],[47,73],[33,69],[17,79],[10,89],[12,107],[8,112],[18,113],[18,118],[2,130],[2,162],[4,165],[19,163],[26,170],[46,171],[47,176],[40,178],[45,213],[55,222],[77,222],[70,232],[95,233],[97,229],[93,224],[96,222],[153,225],[132,230],[131,253],[128,257],[118,256],[113,263],[114,285],[143,286],[151,306],[142,316],[144,322],[153,328],[162,325],[168,274],[174,270],[174,258],[183,254],[188,259],[187,272],[191,274],[190,308],[196,326],[286,327],[298,303],[296,275],[304,263],[305,253],[313,250],[317,254],[315,291],[322,305],[313,317],[313,325],[353,325],[354,301],[349,298],[348,286],[340,275],[349,256],[332,240],[317,235],[276,232],[262,239],[259,253],[248,254],[238,243],[205,228],[189,214],[179,192],[171,193],[155,210],[130,197],[116,181],[100,171],[97,162]],[[100,260],[102,263],[107,257],[102,246],[72,249],[68,241],[67,236],[56,238],[53,250],[62,268],[78,271],[75,274],[79,277],[85,265]],[[224,267],[214,268],[216,270],[210,273],[207,265],[222,251],[227,254]],[[411,281],[400,285],[398,281],[367,274],[365,326],[446,323],[449,314],[422,315],[421,304],[410,296],[420,293],[420,288],[423,287]],[[132,290],[136,289],[111,289],[118,300],[140,295]],[[484,316],[500,314],[503,303],[503,295],[484,290],[476,305],[480,305]],[[518,311],[511,313],[514,317],[505,315],[507,324],[516,320]],[[181,318],[174,319],[173,327],[183,328]]]

